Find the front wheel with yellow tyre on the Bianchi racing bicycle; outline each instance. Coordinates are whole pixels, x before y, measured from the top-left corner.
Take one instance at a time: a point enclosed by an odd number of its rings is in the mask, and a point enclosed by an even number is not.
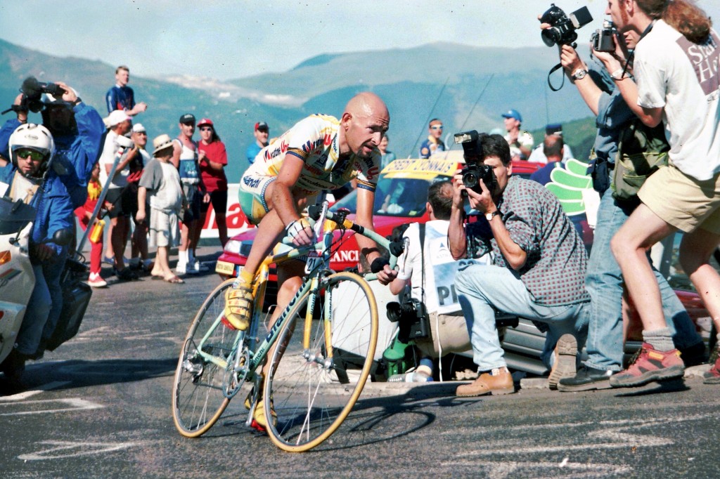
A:
[[[264,388],[265,417],[277,418],[268,434],[289,452],[310,450],[336,432],[365,386],[377,346],[377,303],[366,280],[353,273],[323,278],[308,324],[310,298],[305,293],[289,311]]]

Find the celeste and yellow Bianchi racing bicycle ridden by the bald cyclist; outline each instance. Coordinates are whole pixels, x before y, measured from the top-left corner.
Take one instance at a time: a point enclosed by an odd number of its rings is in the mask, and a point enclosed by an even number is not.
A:
[[[367,283],[374,273],[359,275],[329,269],[330,257],[355,232],[390,252],[395,268],[401,242],[347,219],[348,210],[328,211],[328,203],[310,206],[310,223],[318,242],[295,247],[285,238],[258,268],[253,281],[250,327],[238,331],[223,316],[225,280],[208,296],[184,341],[175,373],[172,410],[180,434],[199,437],[220,419],[244,384],[251,384],[245,406],[253,426],[258,401],[267,433],[282,450],[302,452],[318,446],[346,419],[370,373],[378,334],[377,303]],[[271,265],[305,260],[300,290],[269,328],[259,327],[271,315],[264,311]],[[276,347],[274,347],[276,345]],[[262,366],[270,361],[264,377]],[[263,386],[264,387],[261,387]],[[261,394],[258,391],[262,391]]]

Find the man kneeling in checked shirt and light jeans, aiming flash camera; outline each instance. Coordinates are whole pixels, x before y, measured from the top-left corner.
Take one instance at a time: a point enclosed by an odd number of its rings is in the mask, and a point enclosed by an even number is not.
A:
[[[510,147],[503,137],[465,132],[456,134],[455,141],[462,143],[467,168],[454,179],[450,251],[455,259],[492,255],[492,265],[469,265],[455,276],[480,373],[456,393],[513,393],[495,310],[546,323],[546,350],[565,334],[582,342],[590,301],[583,286],[585,247],[552,193],[535,181],[511,176]],[[482,214],[477,222],[466,223],[466,196]],[[559,377],[575,373],[575,351],[567,355],[556,348],[546,362],[552,363],[551,387]]]

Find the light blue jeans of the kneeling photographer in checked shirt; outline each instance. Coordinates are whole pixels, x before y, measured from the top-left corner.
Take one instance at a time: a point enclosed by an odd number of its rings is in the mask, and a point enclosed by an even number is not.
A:
[[[544,306],[536,304],[518,273],[509,268],[469,265],[455,275],[455,289],[467,321],[472,359],[478,370],[506,365],[495,326],[495,309],[547,323],[555,339],[566,332],[584,342],[587,331],[585,303]]]

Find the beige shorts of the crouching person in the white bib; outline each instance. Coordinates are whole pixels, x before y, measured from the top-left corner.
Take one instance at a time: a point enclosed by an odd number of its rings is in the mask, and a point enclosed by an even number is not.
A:
[[[415,345],[423,354],[440,357],[449,352],[470,351],[470,337],[462,311],[455,314],[430,314],[431,337],[415,339]]]

